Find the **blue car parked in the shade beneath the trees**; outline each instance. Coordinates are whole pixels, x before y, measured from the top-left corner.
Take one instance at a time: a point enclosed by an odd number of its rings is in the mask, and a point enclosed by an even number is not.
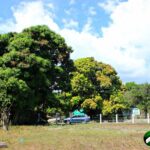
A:
[[[90,117],[87,116],[87,115],[78,115],[78,116],[73,116],[73,117],[70,117],[70,118],[65,118],[64,119],[64,122],[65,123],[68,123],[68,124],[71,124],[71,123],[87,123],[90,121]]]

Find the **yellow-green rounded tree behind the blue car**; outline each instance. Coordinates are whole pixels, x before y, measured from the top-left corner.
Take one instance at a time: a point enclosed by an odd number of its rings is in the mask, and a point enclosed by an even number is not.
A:
[[[78,59],[74,65],[72,105],[84,108],[90,115],[102,112],[103,101],[109,100],[111,95],[121,89],[122,83],[117,72],[110,65],[92,57]]]

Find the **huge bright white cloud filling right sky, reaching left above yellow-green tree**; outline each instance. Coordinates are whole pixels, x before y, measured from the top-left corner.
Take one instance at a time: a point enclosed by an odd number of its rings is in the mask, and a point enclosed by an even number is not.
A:
[[[149,14],[149,0],[128,0],[111,7],[111,23],[102,29],[102,37],[91,34],[90,21],[84,32],[65,30],[62,35],[75,49],[74,57],[94,56],[113,65],[124,81],[146,82],[150,81]]]

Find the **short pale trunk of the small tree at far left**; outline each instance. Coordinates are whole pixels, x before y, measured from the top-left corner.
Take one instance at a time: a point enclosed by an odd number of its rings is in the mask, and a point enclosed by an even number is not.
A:
[[[3,124],[3,129],[8,130],[9,126],[9,115],[7,111],[3,111],[2,113],[2,124]]]

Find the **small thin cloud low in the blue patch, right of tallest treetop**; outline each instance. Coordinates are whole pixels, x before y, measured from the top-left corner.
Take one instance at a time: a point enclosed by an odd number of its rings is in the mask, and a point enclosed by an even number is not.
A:
[[[62,22],[64,23],[64,27],[69,29],[78,28],[79,26],[79,23],[73,19],[70,20],[63,19]]]

